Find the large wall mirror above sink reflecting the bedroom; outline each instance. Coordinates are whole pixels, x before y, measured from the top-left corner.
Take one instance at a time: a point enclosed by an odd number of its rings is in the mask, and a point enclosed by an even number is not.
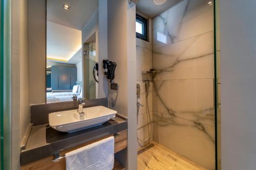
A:
[[[97,99],[98,1],[47,0],[47,103]]]

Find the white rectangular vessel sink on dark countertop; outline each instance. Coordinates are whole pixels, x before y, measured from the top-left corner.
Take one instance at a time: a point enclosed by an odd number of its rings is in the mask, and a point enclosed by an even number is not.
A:
[[[83,112],[79,114],[75,109],[50,113],[49,124],[57,131],[71,133],[108,122],[117,113],[104,106],[84,108]]]

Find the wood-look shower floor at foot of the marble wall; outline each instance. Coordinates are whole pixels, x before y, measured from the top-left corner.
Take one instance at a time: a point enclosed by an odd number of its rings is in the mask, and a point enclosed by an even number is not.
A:
[[[154,147],[138,155],[138,170],[206,170],[153,142]]]

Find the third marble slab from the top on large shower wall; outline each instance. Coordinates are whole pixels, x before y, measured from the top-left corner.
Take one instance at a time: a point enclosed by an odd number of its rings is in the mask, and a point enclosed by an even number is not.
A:
[[[212,79],[154,81],[153,110],[214,126]]]

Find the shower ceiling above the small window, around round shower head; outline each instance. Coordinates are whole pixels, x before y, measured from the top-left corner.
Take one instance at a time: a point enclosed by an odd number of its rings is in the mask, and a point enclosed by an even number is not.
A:
[[[136,4],[136,10],[148,18],[155,18],[168,8],[174,6],[181,0],[167,0],[163,5],[156,5],[152,0],[140,0]]]

